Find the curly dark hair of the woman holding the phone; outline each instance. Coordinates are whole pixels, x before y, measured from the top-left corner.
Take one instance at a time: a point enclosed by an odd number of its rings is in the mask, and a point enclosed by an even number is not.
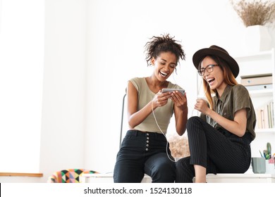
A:
[[[157,58],[162,52],[171,52],[175,54],[177,63],[179,58],[185,60],[185,53],[182,49],[181,44],[178,44],[175,37],[171,37],[169,34],[161,35],[161,37],[152,37],[151,41],[145,44],[145,51],[147,52],[146,61],[147,65],[152,65],[151,59]]]

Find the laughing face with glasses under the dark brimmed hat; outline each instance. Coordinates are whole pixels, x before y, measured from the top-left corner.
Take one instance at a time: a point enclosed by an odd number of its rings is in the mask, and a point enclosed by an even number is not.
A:
[[[224,82],[223,70],[221,70],[219,65],[217,65],[212,58],[206,56],[202,60],[200,70],[202,72],[202,78],[209,84],[209,87],[212,90],[216,89],[222,94],[226,88],[226,83]]]

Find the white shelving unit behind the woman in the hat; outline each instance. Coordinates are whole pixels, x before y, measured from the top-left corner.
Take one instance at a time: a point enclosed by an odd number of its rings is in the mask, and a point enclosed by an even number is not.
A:
[[[274,101],[275,98],[275,58],[274,58],[274,49],[270,51],[261,51],[259,53],[250,53],[245,56],[234,57],[238,62],[240,67],[240,74],[237,77],[238,82],[240,83],[241,76],[247,75],[261,75],[271,73],[272,75],[272,84],[271,86],[264,88],[262,86],[259,89],[250,90],[250,96],[257,113],[259,108],[264,108],[267,103]],[[274,106],[272,108],[274,110]],[[258,118],[257,118],[257,121]],[[264,128],[259,129],[256,126],[256,139],[252,141],[252,157],[259,157],[259,151],[267,149],[267,142],[271,143],[271,152],[275,153],[275,128]]]

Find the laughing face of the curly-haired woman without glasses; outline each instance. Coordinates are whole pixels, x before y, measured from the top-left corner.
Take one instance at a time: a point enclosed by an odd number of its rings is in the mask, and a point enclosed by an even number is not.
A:
[[[154,65],[154,75],[161,82],[166,81],[173,70],[176,68],[176,55],[171,52],[163,52],[157,56],[156,59],[152,58],[152,65]]]

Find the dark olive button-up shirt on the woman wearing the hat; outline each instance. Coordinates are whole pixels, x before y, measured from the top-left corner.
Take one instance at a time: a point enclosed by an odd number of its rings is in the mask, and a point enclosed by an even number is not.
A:
[[[226,117],[228,120],[234,120],[234,114],[243,108],[247,110],[247,124],[245,132],[250,132],[251,141],[255,139],[255,125],[256,125],[256,114],[255,110],[247,89],[237,84],[234,86],[227,85],[224,89],[224,93],[219,98],[218,94],[213,97],[213,107],[216,113]],[[207,115],[201,115],[212,127],[216,129],[224,129],[216,121]]]

